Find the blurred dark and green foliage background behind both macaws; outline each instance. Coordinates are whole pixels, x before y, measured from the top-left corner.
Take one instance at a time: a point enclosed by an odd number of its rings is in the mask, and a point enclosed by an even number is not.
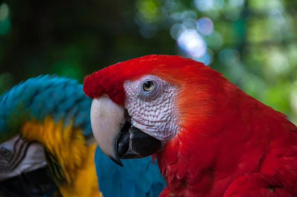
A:
[[[4,0],[0,93],[21,80],[86,74],[146,54],[222,72],[297,123],[297,1]]]

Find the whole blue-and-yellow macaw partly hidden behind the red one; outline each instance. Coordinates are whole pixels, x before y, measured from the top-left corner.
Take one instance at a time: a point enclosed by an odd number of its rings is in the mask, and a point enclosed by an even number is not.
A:
[[[0,197],[158,197],[166,184],[156,161],[120,167],[96,145],[91,104],[81,84],[56,75],[0,96]]]

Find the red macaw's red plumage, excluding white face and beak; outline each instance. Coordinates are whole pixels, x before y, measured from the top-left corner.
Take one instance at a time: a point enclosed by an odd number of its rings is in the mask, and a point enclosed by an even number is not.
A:
[[[167,182],[163,196],[297,196],[297,127],[200,62],[170,55],[131,59],[87,76],[84,92],[123,104],[123,82],[144,74],[180,90],[181,129],[155,155]]]

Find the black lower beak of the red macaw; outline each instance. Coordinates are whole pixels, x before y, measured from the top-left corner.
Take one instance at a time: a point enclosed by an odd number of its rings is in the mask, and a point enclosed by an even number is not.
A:
[[[117,141],[117,152],[121,159],[143,158],[163,148],[161,141],[149,136],[126,122]]]

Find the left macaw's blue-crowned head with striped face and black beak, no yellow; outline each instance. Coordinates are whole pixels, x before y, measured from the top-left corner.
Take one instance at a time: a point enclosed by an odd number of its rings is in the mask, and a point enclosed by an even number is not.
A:
[[[56,75],[30,78],[0,96],[0,196],[45,197],[56,190],[50,155],[38,140],[29,141],[23,125],[51,117],[56,123],[80,127],[93,137],[87,98],[76,80]],[[82,110],[84,109],[84,110]],[[55,168],[56,169],[56,168]],[[5,196],[4,196],[5,197]]]

